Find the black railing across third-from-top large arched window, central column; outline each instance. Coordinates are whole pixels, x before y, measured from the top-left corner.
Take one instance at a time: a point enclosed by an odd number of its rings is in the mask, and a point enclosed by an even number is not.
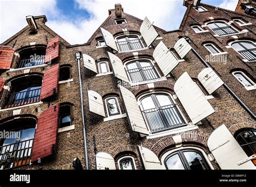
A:
[[[152,133],[186,125],[176,104],[144,110],[143,113]]]

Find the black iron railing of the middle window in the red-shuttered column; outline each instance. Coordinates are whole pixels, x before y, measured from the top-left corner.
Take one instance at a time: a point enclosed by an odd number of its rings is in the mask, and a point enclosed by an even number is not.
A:
[[[40,93],[41,88],[10,93],[8,103],[5,108],[39,102]]]

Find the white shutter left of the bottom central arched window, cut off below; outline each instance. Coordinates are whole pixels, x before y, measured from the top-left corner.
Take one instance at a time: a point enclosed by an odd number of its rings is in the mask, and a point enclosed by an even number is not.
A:
[[[152,150],[142,146],[138,146],[140,156],[142,158],[145,169],[166,169],[161,164],[156,154]]]

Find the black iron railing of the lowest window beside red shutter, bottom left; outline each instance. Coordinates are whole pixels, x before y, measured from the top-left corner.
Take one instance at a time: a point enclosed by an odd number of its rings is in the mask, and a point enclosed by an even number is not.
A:
[[[33,139],[0,146],[0,168],[10,169],[30,163]]]

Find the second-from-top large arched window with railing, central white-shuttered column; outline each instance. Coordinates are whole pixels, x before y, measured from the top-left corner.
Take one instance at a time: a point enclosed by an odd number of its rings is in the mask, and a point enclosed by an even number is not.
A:
[[[159,78],[156,68],[149,60],[136,60],[126,64],[131,82],[150,81]]]

